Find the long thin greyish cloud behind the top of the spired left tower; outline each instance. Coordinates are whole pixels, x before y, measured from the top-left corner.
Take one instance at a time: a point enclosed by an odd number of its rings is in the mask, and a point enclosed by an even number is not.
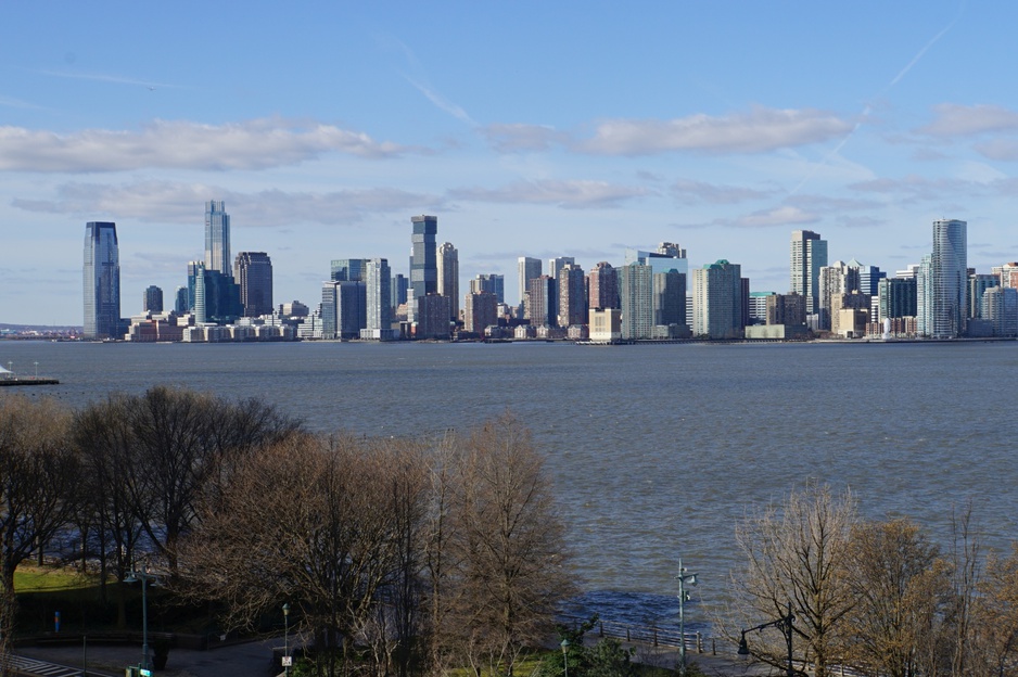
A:
[[[28,212],[66,214],[85,218],[193,223],[206,200],[224,200],[237,223],[253,227],[301,223],[348,225],[378,214],[435,209],[443,201],[433,195],[376,188],[328,193],[263,190],[251,193],[202,183],[143,181],[120,186],[66,183],[54,200],[15,200]],[[195,207],[198,205],[198,207]],[[195,212],[198,209],[199,212]]]

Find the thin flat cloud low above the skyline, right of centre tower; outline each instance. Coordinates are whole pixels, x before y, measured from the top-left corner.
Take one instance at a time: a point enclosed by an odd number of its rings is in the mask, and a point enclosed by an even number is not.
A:
[[[652,194],[645,188],[616,186],[607,181],[520,181],[505,188],[462,188],[449,191],[453,200],[497,203],[550,204],[563,208],[614,207],[631,197]]]

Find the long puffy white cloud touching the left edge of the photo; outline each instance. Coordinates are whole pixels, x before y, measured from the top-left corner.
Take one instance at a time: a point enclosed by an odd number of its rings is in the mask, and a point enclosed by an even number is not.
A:
[[[277,118],[228,125],[155,120],[141,131],[86,129],[69,135],[0,127],[0,170],[7,171],[266,169],[329,152],[384,157],[405,150],[332,125]]]

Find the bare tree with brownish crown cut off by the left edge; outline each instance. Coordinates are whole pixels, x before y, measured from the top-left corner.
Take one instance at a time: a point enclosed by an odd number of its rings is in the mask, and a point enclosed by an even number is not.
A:
[[[0,656],[7,655],[16,609],[14,570],[75,514],[69,420],[50,399],[0,398]]]

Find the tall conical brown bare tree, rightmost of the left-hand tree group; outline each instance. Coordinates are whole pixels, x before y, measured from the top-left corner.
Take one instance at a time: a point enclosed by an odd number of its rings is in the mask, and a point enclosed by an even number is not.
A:
[[[460,475],[446,630],[475,670],[511,675],[520,651],[548,636],[557,604],[574,590],[564,525],[543,458],[510,414],[471,433]]]

